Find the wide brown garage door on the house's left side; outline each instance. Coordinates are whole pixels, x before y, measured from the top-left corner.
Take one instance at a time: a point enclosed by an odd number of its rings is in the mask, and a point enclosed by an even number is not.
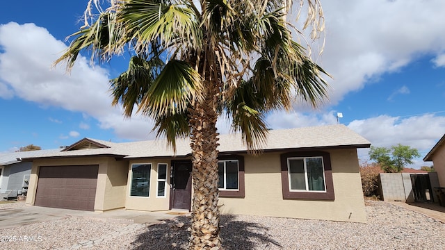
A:
[[[98,165],[40,167],[35,206],[94,210]]]

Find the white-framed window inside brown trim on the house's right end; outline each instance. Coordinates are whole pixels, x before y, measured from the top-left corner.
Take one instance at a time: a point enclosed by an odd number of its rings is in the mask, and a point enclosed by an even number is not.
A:
[[[290,192],[325,192],[323,157],[287,158]]]

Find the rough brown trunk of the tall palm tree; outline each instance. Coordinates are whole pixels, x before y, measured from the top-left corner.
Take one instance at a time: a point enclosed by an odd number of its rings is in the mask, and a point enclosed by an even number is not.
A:
[[[217,86],[208,88],[206,98],[191,108],[193,153],[193,206],[188,249],[220,249],[218,208],[218,133],[216,133]]]

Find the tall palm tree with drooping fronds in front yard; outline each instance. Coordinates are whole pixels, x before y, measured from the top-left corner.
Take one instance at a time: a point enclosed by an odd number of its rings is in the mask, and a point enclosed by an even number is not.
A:
[[[220,249],[218,117],[227,115],[257,152],[268,112],[290,110],[298,99],[316,107],[327,98],[326,73],[292,38],[299,31],[286,21],[291,0],[115,0],[94,16],[97,2],[89,0],[86,26],[56,63],[66,61],[69,70],[83,50],[99,62],[131,54],[127,71],[111,80],[113,105],[122,103],[128,117],[135,106],[152,117],[153,131],[173,149],[177,138],[190,138],[189,249]],[[321,6],[307,3],[305,26],[319,31]]]

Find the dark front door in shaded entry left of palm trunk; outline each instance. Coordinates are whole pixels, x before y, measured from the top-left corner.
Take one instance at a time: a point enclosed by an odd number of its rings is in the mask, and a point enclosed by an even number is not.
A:
[[[170,209],[191,209],[192,200],[191,160],[172,161],[172,192]]]

